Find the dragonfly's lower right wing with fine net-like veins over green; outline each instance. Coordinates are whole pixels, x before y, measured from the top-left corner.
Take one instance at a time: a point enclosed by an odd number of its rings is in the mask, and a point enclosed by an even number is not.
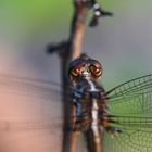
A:
[[[143,115],[111,116],[111,126],[122,130],[116,137],[105,132],[105,152],[151,152],[152,117]]]

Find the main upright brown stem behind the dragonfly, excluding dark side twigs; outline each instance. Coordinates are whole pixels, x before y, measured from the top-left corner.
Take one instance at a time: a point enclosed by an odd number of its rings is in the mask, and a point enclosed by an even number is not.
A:
[[[67,75],[67,67],[72,60],[78,58],[81,52],[81,43],[86,26],[86,17],[88,7],[84,2],[74,2],[74,16],[72,20],[71,35],[68,39],[68,48],[64,55],[62,54],[62,83],[63,83],[63,97],[64,97],[64,128],[69,128],[72,124],[72,117],[75,115],[75,110],[72,101],[69,100],[68,93],[69,88],[67,81],[65,80]],[[64,56],[64,58],[63,58]],[[64,131],[63,136],[63,152],[76,152],[77,150],[77,138],[78,132]]]

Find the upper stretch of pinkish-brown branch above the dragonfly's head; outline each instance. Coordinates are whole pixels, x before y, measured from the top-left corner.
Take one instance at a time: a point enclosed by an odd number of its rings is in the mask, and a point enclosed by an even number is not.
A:
[[[74,60],[80,55],[81,43],[86,27],[86,17],[88,12],[87,3],[77,1],[75,1],[74,3],[75,12],[72,21],[72,29],[69,35],[71,60]]]

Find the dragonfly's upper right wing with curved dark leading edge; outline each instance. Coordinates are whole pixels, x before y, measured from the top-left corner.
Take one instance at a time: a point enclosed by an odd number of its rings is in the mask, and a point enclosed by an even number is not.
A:
[[[152,74],[124,83],[106,96],[114,114],[151,114]]]

